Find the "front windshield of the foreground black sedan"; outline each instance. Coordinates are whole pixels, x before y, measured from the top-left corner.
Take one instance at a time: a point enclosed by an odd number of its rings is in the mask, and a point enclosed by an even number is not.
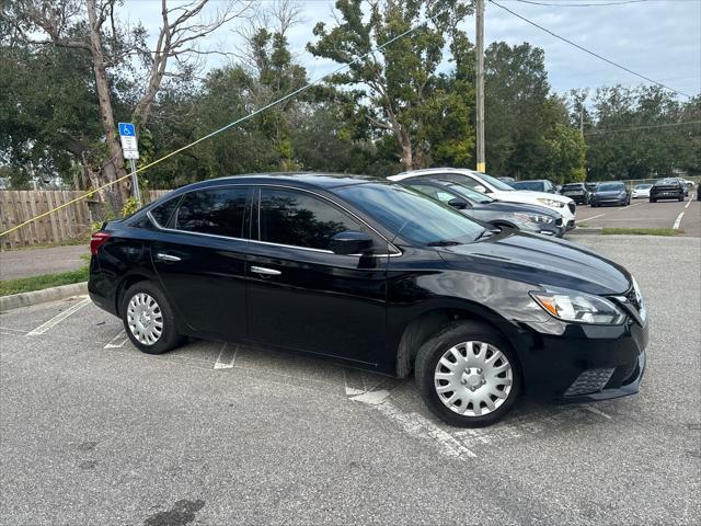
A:
[[[413,243],[462,244],[485,232],[484,227],[452,207],[399,184],[350,184],[335,193]]]

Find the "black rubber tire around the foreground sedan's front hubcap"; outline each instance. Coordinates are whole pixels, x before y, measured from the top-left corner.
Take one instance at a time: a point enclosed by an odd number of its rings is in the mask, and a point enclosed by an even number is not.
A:
[[[490,345],[492,348],[496,348],[502,352],[502,355],[510,365],[510,374],[512,374],[512,385],[510,391],[508,391],[506,399],[501,402],[501,405],[496,407],[494,410],[486,414],[481,415],[464,415],[459,414],[456,411],[449,409],[440,399],[440,396],[436,391],[436,382],[447,381],[441,379],[435,379],[434,375],[436,374],[436,368],[440,358],[445,353],[449,352],[451,347],[455,345],[459,345],[466,342],[483,342]],[[463,350],[467,356],[467,348]],[[487,350],[486,355],[493,356],[491,348]],[[481,353],[480,353],[481,354]],[[498,358],[495,364],[499,363]],[[457,363],[457,359],[456,359]],[[434,336],[432,336],[427,342],[425,342],[421,348],[418,350],[418,354],[416,355],[415,363],[415,377],[416,384],[418,385],[418,390],[421,392],[422,399],[424,403],[428,407],[428,409],[440,420],[456,426],[460,427],[482,427],[485,425],[491,425],[496,421],[501,420],[516,403],[520,396],[521,391],[521,370],[520,365],[518,363],[518,358],[516,357],[516,353],[512,350],[508,341],[504,336],[502,336],[497,331],[492,329],[491,327],[475,322],[475,321],[461,321],[451,323],[450,325],[445,327]],[[446,368],[446,370],[448,370]],[[462,369],[460,369],[462,370]],[[468,369],[470,370],[470,369]],[[481,373],[481,369],[476,369]],[[462,375],[467,373],[463,371]],[[501,375],[502,373],[499,373]],[[506,375],[507,373],[504,373]],[[468,381],[468,380],[466,380]],[[464,385],[464,384],[463,384]],[[459,386],[458,386],[459,387]],[[468,393],[468,387],[464,388],[464,392]],[[476,387],[475,390],[482,389]],[[505,388],[502,389],[502,391]],[[452,392],[452,391],[449,391]],[[487,391],[489,392],[489,391]],[[444,393],[448,395],[448,393]],[[496,398],[496,397],[495,397]],[[471,402],[467,400],[458,399],[460,401],[460,408],[463,407],[468,410],[470,408]],[[499,403],[491,398],[492,402]],[[458,408],[459,409],[459,408]],[[486,404],[484,407],[486,409]],[[480,402],[480,412],[484,410],[482,408],[482,402]],[[473,409],[472,409],[473,411]]]

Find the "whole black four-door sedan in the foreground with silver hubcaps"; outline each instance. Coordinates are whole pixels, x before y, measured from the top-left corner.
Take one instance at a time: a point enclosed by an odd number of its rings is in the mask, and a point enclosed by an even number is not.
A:
[[[521,395],[632,395],[645,367],[646,309],[625,268],[494,233],[390,182],[210,180],[104,224],[90,244],[90,297],[146,353],[191,335],[413,369],[456,425],[491,424]]]

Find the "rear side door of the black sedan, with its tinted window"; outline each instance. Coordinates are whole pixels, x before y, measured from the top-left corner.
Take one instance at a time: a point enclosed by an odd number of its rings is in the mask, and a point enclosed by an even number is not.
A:
[[[158,225],[161,236],[151,243],[153,267],[166,296],[187,325],[203,335],[246,335],[251,193],[244,185],[188,192],[168,224]],[[152,219],[158,216],[153,210]]]

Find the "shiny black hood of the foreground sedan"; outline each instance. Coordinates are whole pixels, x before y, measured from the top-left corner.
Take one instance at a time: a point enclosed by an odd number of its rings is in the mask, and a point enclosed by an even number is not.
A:
[[[625,268],[584,247],[514,230],[437,250],[451,267],[543,287],[613,295],[632,286]]]

